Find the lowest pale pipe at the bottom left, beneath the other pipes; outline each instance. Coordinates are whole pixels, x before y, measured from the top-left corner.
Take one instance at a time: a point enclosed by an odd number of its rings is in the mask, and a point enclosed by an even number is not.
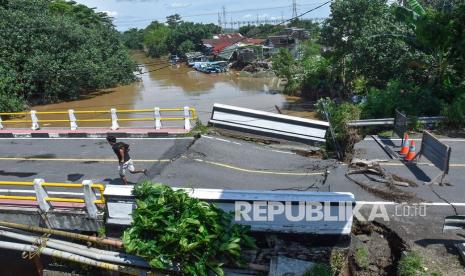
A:
[[[124,272],[130,275],[149,275],[150,271],[145,269],[138,269],[132,267],[126,267],[122,265],[115,265],[106,262],[99,262],[96,260],[92,260],[90,258],[86,258],[83,256],[79,256],[76,254],[51,249],[51,248],[39,248],[34,245],[22,244],[22,243],[15,243],[15,242],[6,242],[0,241],[0,248],[8,249],[8,250],[17,250],[17,251],[26,251],[26,252],[40,252],[40,254],[44,254],[47,256],[52,256],[55,258],[65,259],[72,262],[78,262],[82,264],[87,264],[91,266],[95,266],[102,269]]]

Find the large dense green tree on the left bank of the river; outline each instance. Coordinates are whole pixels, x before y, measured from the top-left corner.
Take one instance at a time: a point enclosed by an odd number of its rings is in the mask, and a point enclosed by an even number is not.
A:
[[[136,65],[105,16],[75,2],[0,6],[0,108],[74,99],[134,81]]]

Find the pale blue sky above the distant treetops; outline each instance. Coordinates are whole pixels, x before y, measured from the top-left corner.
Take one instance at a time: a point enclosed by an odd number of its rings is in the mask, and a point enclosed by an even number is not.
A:
[[[218,13],[227,22],[279,20],[292,17],[292,0],[75,0],[114,18],[120,31],[145,28],[151,21],[165,21],[166,16],[178,13],[184,21],[218,24]],[[297,14],[304,13],[326,2],[324,0],[296,0]],[[329,15],[329,4],[303,18],[321,18]],[[229,27],[229,24],[228,24]]]

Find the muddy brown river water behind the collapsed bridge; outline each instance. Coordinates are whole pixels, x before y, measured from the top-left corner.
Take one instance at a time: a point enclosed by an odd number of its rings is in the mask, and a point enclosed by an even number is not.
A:
[[[37,111],[153,109],[194,107],[203,123],[207,123],[214,103],[277,112],[311,118],[308,103],[280,93],[278,78],[240,77],[238,72],[204,74],[184,65],[171,66],[166,60],[146,57],[143,52],[133,53],[140,64],[140,80],[126,86],[118,86],[90,93],[78,100],[34,106]],[[168,115],[168,114],[167,114]],[[66,119],[67,115],[41,115],[40,119]],[[124,114],[124,117],[150,117],[153,114]],[[163,114],[162,114],[163,116]],[[109,118],[108,114],[78,115],[78,119]],[[84,126],[96,126],[86,123]],[[102,124],[108,123],[98,123]],[[150,126],[151,122],[125,122],[123,126]],[[179,124],[179,123],[178,123]],[[42,124],[63,126],[66,123]],[[82,126],[83,124],[79,124]],[[26,126],[26,125],[25,125]]]

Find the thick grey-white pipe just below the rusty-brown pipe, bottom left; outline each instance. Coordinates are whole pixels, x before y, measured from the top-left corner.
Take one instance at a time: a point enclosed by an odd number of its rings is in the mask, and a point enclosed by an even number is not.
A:
[[[43,238],[43,237],[37,237],[37,236],[28,236],[25,234],[14,233],[14,232],[6,231],[6,230],[0,230],[0,236],[4,236],[4,237],[12,238],[15,240],[20,240],[20,241],[25,241],[25,242],[33,243],[33,244],[42,244],[43,246],[46,246],[46,247],[81,255],[81,256],[92,258],[98,261],[106,261],[106,262],[118,263],[118,264],[123,264],[123,265],[132,265],[132,266],[141,266],[145,268],[150,268],[150,265],[142,258],[131,256],[131,255],[126,255],[126,254],[119,256],[120,254],[122,254],[120,252],[114,252],[116,253],[115,255],[110,255],[110,254],[106,254],[106,252],[109,252],[109,251],[105,251],[105,250],[98,250],[98,252],[95,252],[85,246],[83,246],[83,248],[79,248],[77,246],[71,246],[70,244],[74,245],[74,243],[71,243],[71,242],[67,242],[65,244],[65,243],[57,242],[58,240],[55,240],[55,239]]]

